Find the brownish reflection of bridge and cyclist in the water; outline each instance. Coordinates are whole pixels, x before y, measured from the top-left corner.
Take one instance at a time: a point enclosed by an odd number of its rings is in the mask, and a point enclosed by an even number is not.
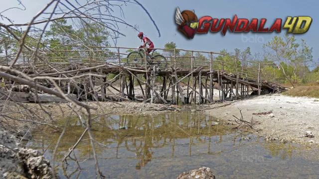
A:
[[[187,111],[182,114],[169,113],[154,117],[122,115],[115,120],[112,120],[110,116],[100,116],[92,123],[97,158],[101,163],[106,164],[105,168],[116,165],[113,163],[115,160],[119,162],[128,159],[134,162],[136,169],[141,169],[143,166],[149,165],[151,160],[220,155],[245,144],[260,142],[258,137],[243,141],[241,138],[246,136],[231,131],[232,126],[212,126],[214,123],[212,116]],[[72,120],[69,124],[70,126],[67,127],[57,150],[58,160],[65,156],[83,133],[83,127],[77,120]],[[103,127],[110,125],[117,127],[114,130]],[[128,128],[121,129],[123,126]],[[45,132],[45,130],[41,131]],[[55,144],[59,140],[59,135],[59,133],[49,132],[45,132],[43,135],[34,135],[34,139],[37,140],[34,146],[38,146],[38,150],[47,151],[46,156],[50,156],[55,147],[55,145],[50,144]],[[93,149],[89,143],[86,134],[74,151],[74,157],[76,156],[76,159],[86,168],[90,168],[93,160]],[[272,146],[282,145],[277,143],[263,145],[266,149],[275,152],[289,151],[292,147],[289,145],[286,149],[285,147]],[[68,159],[69,164],[70,162],[71,160]],[[63,170],[70,169],[76,170],[76,165],[69,165],[68,169],[63,168]]]

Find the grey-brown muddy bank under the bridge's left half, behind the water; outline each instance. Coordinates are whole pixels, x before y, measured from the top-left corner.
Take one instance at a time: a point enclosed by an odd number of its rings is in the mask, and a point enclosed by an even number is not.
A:
[[[85,102],[90,106],[97,109],[91,110],[92,115],[101,114],[153,114],[157,115],[163,112],[180,111],[183,107],[177,107],[170,104],[150,104],[141,102]],[[22,107],[23,106],[23,107]],[[60,118],[66,118],[70,116],[76,116],[77,114],[72,110],[73,107],[69,102],[64,103],[21,103],[17,105],[11,101],[0,101],[0,108],[3,108],[1,114],[5,114],[14,119],[27,119],[30,121],[40,123],[55,123]],[[79,112],[79,109],[75,109]],[[81,109],[85,111],[84,108]],[[22,112],[21,112],[22,111]],[[23,128],[28,130],[32,123],[23,122],[6,118],[6,123],[10,127],[6,126],[6,130],[12,130],[12,128]],[[14,131],[14,130],[13,130]]]

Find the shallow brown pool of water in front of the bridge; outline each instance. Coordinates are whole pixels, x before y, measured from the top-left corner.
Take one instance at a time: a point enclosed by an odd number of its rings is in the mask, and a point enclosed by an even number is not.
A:
[[[97,117],[92,134],[100,171],[111,179],[175,179],[182,172],[205,166],[217,179],[319,178],[318,151],[266,142],[256,135],[231,130],[234,126],[215,125],[216,122],[216,118],[190,111]],[[61,163],[83,131],[79,119],[70,119],[55,157],[61,178],[95,178],[87,133],[71,154],[82,170],[77,170],[78,165],[71,159],[67,160],[68,165]],[[51,159],[59,135],[51,128],[33,131],[27,146]]]

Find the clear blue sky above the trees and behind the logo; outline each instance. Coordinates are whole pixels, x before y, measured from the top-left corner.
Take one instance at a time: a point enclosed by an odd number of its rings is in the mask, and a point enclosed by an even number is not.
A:
[[[41,0],[34,3],[34,0],[22,0],[26,6],[25,11],[7,11],[5,15],[12,17],[16,22],[28,22],[48,0]],[[283,23],[287,16],[311,16],[313,18],[309,31],[305,34],[297,34],[296,38],[305,39],[308,45],[313,47],[314,60],[319,59],[319,1],[316,0],[139,0],[140,3],[149,11],[152,18],[160,29],[160,37],[152,20],[138,4],[129,3],[123,6],[124,20],[130,24],[137,24],[140,31],[143,31],[153,42],[155,47],[163,48],[166,42],[174,41],[177,48],[199,51],[219,52],[222,49],[233,51],[235,48],[244,49],[251,47],[251,51],[262,52],[262,45],[271,40],[275,35],[282,33],[231,33],[227,31],[223,36],[221,32],[208,34],[195,34],[191,40],[186,39],[177,30],[174,21],[176,7],[180,10],[195,10],[198,18],[211,16],[213,18],[233,18],[237,14],[238,18],[267,18],[265,27],[271,27],[276,18],[282,18]],[[17,4],[16,0],[6,0],[1,2],[2,7]],[[18,13],[16,13],[18,12]],[[116,11],[115,14],[119,14]],[[0,19],[1,20],[1,19]],[[2,21],[2,20],[1,20]],[[138,47],[141,40],[138,39],[138,32],[131,27],[120,25],[120,30],[126,35],[118,39],[117,46]],[[245,37],[250,38],[251,42],[245,41]],[[252,42],[253,41],[253,42]]]

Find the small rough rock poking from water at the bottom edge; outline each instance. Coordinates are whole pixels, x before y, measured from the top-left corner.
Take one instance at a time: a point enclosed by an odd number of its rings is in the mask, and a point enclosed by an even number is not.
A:
[[[201,167],[180,174],[177,179],[215,179],[213,172],[208,167]]]

